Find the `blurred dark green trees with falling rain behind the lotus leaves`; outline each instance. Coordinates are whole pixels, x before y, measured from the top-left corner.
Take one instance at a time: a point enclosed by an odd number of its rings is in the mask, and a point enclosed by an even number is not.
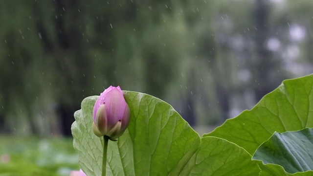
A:
[[[192,126],[221,124],[313,71],[312,5],[1,1],[0,131],[70,135],[82,99],[110,85],[159,97]]]

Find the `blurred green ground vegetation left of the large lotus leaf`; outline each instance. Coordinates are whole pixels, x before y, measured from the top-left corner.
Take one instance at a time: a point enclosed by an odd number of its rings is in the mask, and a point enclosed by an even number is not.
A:
[[[1,135],[0,176],[69,176],[79,169],[72,141]]]

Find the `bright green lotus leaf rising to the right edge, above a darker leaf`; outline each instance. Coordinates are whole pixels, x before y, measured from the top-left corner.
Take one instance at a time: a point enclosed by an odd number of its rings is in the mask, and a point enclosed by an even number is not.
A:
[[[274,133],[313,128],[313,75],[283,81],[252,109],[228,119],[213,132],[253,154]]]

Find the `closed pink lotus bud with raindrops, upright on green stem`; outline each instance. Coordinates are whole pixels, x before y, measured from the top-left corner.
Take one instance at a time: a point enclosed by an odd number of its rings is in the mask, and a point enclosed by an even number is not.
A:
[[[129,119],[130,110],[121,88],[105,89],[93,107],[93,132],[99,137],[106,135],[116,140],[125,132]]]

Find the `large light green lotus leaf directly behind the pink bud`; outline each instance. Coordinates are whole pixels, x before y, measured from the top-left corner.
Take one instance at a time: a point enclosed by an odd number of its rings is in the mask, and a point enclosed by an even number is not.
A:
[[[83,100],[72,125],[73,145],[88,176],[101,174],[103,139],[92,132],[92,110],[97,97]],[[124,97],[131,110],[131,121],[117,142],[109,141],[108,176],[220,176],[229,172],[235,176],[259,175],[257,161],[251,161],[244,149],[224,139],[200,138],[164,101],[130,91],[124,91]]]

